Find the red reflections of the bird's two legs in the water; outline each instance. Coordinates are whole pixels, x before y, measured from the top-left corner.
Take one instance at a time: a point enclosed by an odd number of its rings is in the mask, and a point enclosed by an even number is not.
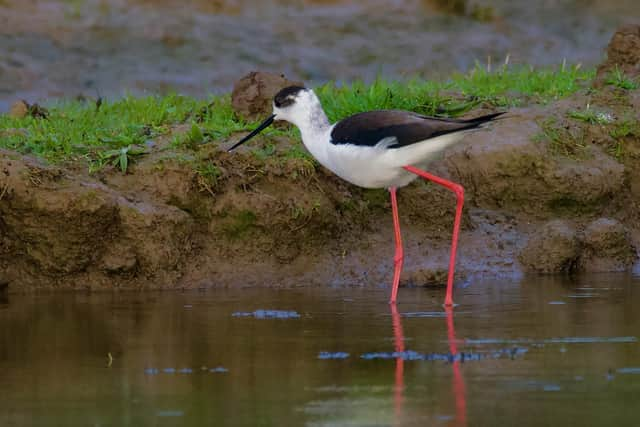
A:
[[[394,383],[394,425],[402,424],[402,408],[404,404],[404,332],[402,329],[402,319],[395,304],[390,304],[391,321],[393,326],[393,338],[395,343],[396,357],[395,383]],[[451,368],[453,369],[452,389],[456,405],[455,426],[464,427],[467,425],[467,401],[464,378],[460,370],[461,359],[457,357],[458,347],[456,331],[453,323],[453,307],[445,307],[445,317],[447,321],[447,341],[449,352],[451,353]]]

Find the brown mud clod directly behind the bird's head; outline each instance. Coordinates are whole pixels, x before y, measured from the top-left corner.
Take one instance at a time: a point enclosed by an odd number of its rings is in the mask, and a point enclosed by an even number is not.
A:
[[[273,97],[280,89],[303,83],[287,79],[284,74],[252,71],[233,85],[231,105],[248,121],[262,120],[271,114]]]

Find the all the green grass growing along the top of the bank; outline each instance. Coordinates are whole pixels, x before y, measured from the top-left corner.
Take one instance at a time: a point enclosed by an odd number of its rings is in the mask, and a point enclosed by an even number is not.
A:
[[[466,74],[454,74],[446,81],[412,79],[394,82],[377,79],[370,84],[333,83],[316,88],[332,121],[374,109],[405,109],[423,114],[456,116],[478,104],[499,108],[526,103],[547,103],[568,96],[588,84],[593,70],[577,67],[536,70],[502,67],[489,72],[477,66]],[[171,132],[175,125],[188,124],[189,131],[174,136],[173,147],[197,150],[200,146],[247,131],[256,123],[236,117],[230,97],[208,100],[168,95],[95,103],[68,101],[46,105],[47,118],[13,118],[0,115],[0,147],[32,154],[51,162],[84,159],[99,167],[116,163],[123,171],[145,143]],[[289,135],[296,130],[270,128],[266,138]],[[131,148],[129,148],[131,147]],[[296,149],[291,157],[304,154]],[[268,143],[258,157],[273,154]]]

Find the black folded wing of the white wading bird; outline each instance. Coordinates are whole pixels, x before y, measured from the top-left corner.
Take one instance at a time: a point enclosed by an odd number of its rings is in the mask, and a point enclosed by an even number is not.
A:
[[[331,143],[372,147],[385,138],[395,138],[396,142],[388,148],[400,148],[447,133],[477,128],[503,113],[465,120],[421,116],[399,110],[368,111],[338,122],[331,131]]]

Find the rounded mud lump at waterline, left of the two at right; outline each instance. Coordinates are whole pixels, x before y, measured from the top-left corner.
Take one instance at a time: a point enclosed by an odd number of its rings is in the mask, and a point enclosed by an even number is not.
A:
[[[538,273],[562,273],[575,270],[580,256],[580,241],[567,221],[546,223],[520,252],[523,267]]]

